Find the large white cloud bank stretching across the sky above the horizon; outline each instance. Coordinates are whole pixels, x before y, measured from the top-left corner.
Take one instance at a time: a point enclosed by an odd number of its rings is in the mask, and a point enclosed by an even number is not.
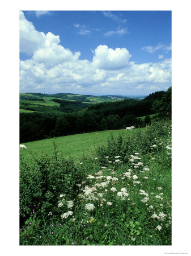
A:
[[[171,59],[135,64],[128,49],[100,45],[91,50],[92,61],[80,60],[80,52],[61,46],[58,35],[35,30],[22,12],[20,50],[31,54],[20,61],[22,92],[148,94],[171,86]]]

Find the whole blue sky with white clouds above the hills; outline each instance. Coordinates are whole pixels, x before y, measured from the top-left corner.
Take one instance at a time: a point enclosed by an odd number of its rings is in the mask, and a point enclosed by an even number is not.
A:
[[[171,11],[20,11],[20,92],[171,86]]]

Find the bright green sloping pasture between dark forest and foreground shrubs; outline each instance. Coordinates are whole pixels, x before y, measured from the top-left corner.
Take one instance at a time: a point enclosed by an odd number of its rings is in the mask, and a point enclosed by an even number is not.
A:
[[[135,133],[139,129],[134,131],[126,130],[111,130],[111,131],[98,131],[96,133],[84,133],[84,134],[74,134],[64,137],[56,138],[56,144],[58,145],[58,151],[63,153],[66,157],[71,156],[73,159],[78,160],[83,155],[91,155],[97,146],[103,146],[107,142],[107,138],[110,134],[113,137],[117,137],[120,132],[124,134]],[[41,141],[33,141],[23,143],[27,150],[20,150],[20,154],[24,156],[25,159],[31,159],[32,156],[29,154],[31,151],[37,155],[40,155],[42,151],[47,154],[52,154],[53,152],[53,139],[43,139]]]

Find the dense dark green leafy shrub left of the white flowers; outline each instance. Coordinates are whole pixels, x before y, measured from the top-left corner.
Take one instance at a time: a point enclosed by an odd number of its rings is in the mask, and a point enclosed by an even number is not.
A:
[[[27,163],[20,156],[20,222],[30,216],[48,216],[49,212],[58,214],[56,205],[61,193],[67,199],[74,198],[77,184],[84,178],[80,168],[74,166],[72,159],[66,160],[58,155],[54,142],[54,155],[33,156],[33,163]]]

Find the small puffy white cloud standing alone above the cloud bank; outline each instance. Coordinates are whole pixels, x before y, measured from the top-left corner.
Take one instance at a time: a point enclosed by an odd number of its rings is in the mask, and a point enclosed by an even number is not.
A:
[[[99,69],[122,69],[128,66],[131,57],[126,48],[108,48],[108,46],[98,46],[95,49],[92,66]]]

